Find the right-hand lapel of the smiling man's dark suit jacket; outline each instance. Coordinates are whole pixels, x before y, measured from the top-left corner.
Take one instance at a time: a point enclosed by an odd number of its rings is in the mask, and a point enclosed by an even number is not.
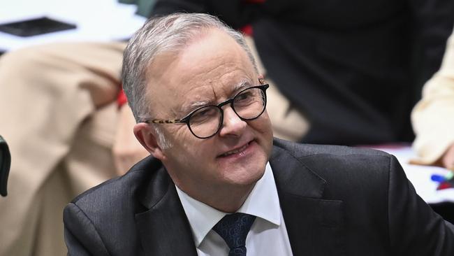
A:
[[[293,255],[345,255],[342,201],[322,198],[325,180],[282,148],[270,165]]]

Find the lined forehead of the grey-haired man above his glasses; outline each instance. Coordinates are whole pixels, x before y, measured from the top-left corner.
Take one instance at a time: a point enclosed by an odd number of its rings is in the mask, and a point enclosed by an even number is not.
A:
[[[191,41],[177,52],[163,52],[148,71],[147,80],[152,80],[149,89],[159,91],[159,97],[173,97],[171,105],[179,109],[206,105],[216,100],[219,90],[230,94],[254,83],[255,77],[253,64],[244,49],[225,32],[217,30]]]

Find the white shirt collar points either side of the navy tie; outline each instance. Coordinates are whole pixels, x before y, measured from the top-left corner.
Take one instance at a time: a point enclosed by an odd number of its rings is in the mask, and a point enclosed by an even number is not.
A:
[[[201,201],[193,199],[180,188],[175,187],[186,217],[189,220],[189,225],[191,225],[194,243],[198,247],[212,227],[224,218],[227,213],[218,211]],[[274,225],[281,225],[279,197],[277,196],[276,183],[274,183],[274,176],[269,162],[266,164],[262,178],[257,181],[246,201],[237,212],[255,215]]]

